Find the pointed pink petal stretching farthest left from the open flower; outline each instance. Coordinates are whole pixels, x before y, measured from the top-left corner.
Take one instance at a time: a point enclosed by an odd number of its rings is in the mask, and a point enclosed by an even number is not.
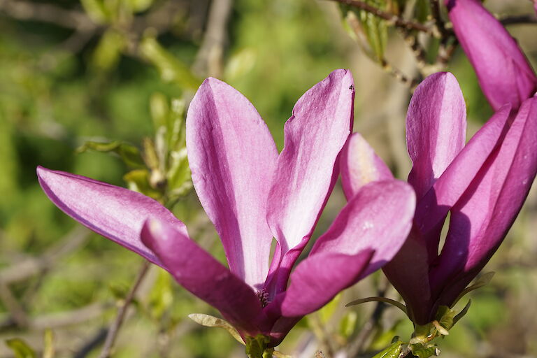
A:
[[[140,241],[143,222],[150,216],[158,217],[188,235],[185,224],[160,203],[143,194],[42,166],[38,166],[37,176],[45,194],[64,213],[97,234],[164,268],[155,254]]]

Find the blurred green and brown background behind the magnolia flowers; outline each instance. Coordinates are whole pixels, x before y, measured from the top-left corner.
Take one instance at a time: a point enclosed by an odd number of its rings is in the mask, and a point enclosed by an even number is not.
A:
[[[525,0],[487,1],[487,6],[501,15],[532,11]],[[537,25],[509,29],[535,68]],[[412,52],[394,29],[387,31],[385,52],[390,64],[411,78],[417,75]],[[76,154],[76,148],[112,140],[141,148],[143,138],[155,134],[152,96],[188,101],[209,75],[254,103],[281,149],[283,124],[296,99],[337,68],[351,69],[355,78],[355,130],[405,178],[408,87],[364,55],[330,1],[1,0],[0,357],[14,357],[3,343],[13,337],[41,352],[49,328],[55,357],[96,357],[115,305],[142,262],[55,208],[38,185],[37,165],[124,186],[128,168],[120,158]],[[492,110],[460,49],[447,69],[461,83],[471,135]],[[317,234],[343,203],[336,187]],[[223,259],[195,194],[173,209],[194,239]],[[537,357],[536,230],[533,190],[485,268],[496,271],[492,284],[471,295],[470,312],[441,342],[443,357]],[[113,357],[243,357],[243,348],[225,331],[198,327],[187,318],[217,313],[172,281],[151,269]],[[280,350],[313,357],[324,345],[334,351],[352,345],[368,329],[375,305],[351,309],[343,303],[384,285],[379,274],[360,282],[303,320]],[[398,299],[392,289],[387,296]],[[402,318],[387,308],[380,329],[373,327],[363,355],[356,357],[371,357],[367,350],[382,348],[395,334],[408,337],[410,325]]]

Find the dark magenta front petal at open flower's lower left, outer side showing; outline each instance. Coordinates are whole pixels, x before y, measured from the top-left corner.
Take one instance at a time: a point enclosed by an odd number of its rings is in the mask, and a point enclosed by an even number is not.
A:
[[[169,224],[150,219],[143,226],[141,238],[182,287],[220,310],[241,331],[250,336],[259,333],[261,303],[241,278]]]

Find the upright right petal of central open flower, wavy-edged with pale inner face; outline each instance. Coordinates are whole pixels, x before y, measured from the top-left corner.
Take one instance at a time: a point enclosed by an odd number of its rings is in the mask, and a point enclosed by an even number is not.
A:
[[[311,236],[334,188],[336,159],[352,124],[354,85],[350,71],[336,70],[303,94],[285,123],[285,146],[278,157],[268,196],[268,224],[282,251],[278,290]],[[290,252],[296,248],[294,252]],[[288,254],[288,255],[287,255]]]

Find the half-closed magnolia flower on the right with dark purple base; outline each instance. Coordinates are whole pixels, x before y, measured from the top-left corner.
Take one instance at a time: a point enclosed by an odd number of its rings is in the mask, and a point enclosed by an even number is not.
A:
[[[384,271],[416,324],[452,306],[505,238],[537,173],[537,97],[520,110],[501,107],[471,140],[466,108],[451,73],[435,73],[417,87],[406,117],[413,162],[408,182],[417,196],[413,229]],[[348,198],[361,185],[392,178],[358,134],[341,156]],[[441,231],[451,213],[439,252]]]

